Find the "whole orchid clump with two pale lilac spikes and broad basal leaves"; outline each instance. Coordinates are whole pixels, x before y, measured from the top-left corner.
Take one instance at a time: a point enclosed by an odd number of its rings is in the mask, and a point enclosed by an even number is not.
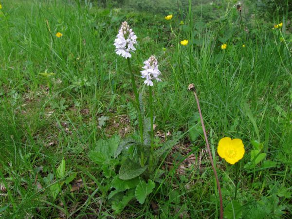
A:
[[[126,139],[114,136],[110,140],[100,140],[98,146],[90,151],[90,159],[98,164],[104,176],[111,184],[108,199],[111,201],[115,213],[121,212],[129,201],[136,198],[141,204],[146,201],[146,197],[153,192],[155,182],[164,171],[156,168],[160,157],[174,146],[178,138],[166,141],[157,145],[154,142],[153,124],[153,94],[152,87],[154,81],[161,81],[161,72],[158,69],[158,60],[151,55],[145,62],[141,71],[141,77],[145,79],[144,84],[149,88],[148,104],[149,117],[145,113],[142,93],[138,93],[135,82],[135,75],[131,68],[130,58],[136,51],[137,37],[128,23],[124,21],[119,29],[119,33],[114,40],[115,53],[126,58],[130,73],[132,89],[135,94],[133,105],[138,114],[139,131],[138,138],[135,134]],[[154,148],[158,148],[154,150]],[[108,184],[108,183],[107,183]]]

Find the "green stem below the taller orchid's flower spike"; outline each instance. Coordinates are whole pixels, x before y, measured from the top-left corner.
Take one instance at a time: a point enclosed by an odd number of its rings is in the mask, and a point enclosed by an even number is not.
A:
[[[135,83],[135,76],[132,72],[132,67],[131,67],[131,62],[130,59],[127,58],[128,61],[128,67],[129,67],[129,71],[131,74],[131,81],[132,81],[132,86],[133,86],[133,91],[135,93],[135,99],[136,99],[136,104],[137,104],[137,108],[138,108],[138,118],[139,118],[139,131],[140,131],[140,139],[141,139],[141,144],[144,144],[143,141],[143,122],[142,122],[142,115],[141,115],[141,110],[140,110],[140,104],[139,104],[139,94],[137,91],[137,86]],[[141,165],[144,166],[144,148],[141,147]]]

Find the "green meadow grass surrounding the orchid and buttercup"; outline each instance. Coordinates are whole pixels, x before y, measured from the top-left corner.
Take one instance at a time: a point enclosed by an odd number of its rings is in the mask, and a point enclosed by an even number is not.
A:
[[[163,81],[153,86],[156,141],[164,140],[168,131],[175,136],[200,126],[194,120],[196,101],[187,91],[194,83],[216,155],[224,208],[233,199],[235,168],[219,158],[216,148],[219,139],[229,136],[242,139],[246,150],[239,162],[237,193],[242,217],[291,218],[292,41],[289,24],[284,22],[287,31],[272,30],[282,18],[264,22],[249,17],[252,7],[243,9],[246,32],[237,11],[222,4],[221,17],[208,23],[196,15],[189,20],[191,10],[184,12],[184,25],[174,16],[175,37],[164,15],[63,0],[4,0],[2,6],[0,183],[5,189],[0,192],[0,217],[219,217],[217,188],[200,132],[186,135],[165,155],[163,183],[156,183],[144,204],[132,200],[117,215],[108,201],[109,179],[88,153],[101,139],[124,138],[138,128],[128,67],[112,45],[127,20],[138,36],[131,63],[139,91],[147,93],[140,71],[150,55],[156,55],[162,72]],[[63,36],[55,37],[57,32]],[[185,47],[180,45],[183,39],[190,40]],[[227,49],[221,50],[225,42]],[[45,72],[55,75],[39,74]],[[102,116],[108,117],[103,126]],[[245,166],[251,162],[254,140],[262,143],[265,156]],[[57,177],[63,158],[65,175]],[[54,199],[53,182],[74,173]]]

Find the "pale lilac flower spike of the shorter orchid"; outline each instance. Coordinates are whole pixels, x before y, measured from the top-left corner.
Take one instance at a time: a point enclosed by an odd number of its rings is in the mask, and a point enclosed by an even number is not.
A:
[[[155,58],[155,56],[151,55],[150,58],[144,62],[144,64],[145,64],[145,66],[143,67],[144,70],[141,71],[142,78],[146,78],[144,83],[147,86],[153,86],[153,81],[152,81],[153,79],[157,81],[161,81],[161,79],[158,78],[158,76],[161,73],[158,70],[158,61]]]

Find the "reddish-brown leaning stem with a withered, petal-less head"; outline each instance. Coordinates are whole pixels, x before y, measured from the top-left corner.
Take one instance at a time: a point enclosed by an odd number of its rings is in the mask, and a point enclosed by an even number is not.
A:
[[[212,164],[213,172],[214,172],[214,175],[215,175],[215,179],[216,179],[216,183],[217,183],[217,187],[218,187],[218,191],[219,191],[220,219],[223,219],[223,201],[222,201],[220,183],[219,183],[219,179],[218,179],[218,176],[217,176],[216,168],[215,168],[214,163],[213,163],[213,158],[212,158],[212,154],[211,154],[211,150],[210,150],[210,146],[209,146],[209,142],[208,142],[208,138],[207,138],[207,134],[206,134],[206,129],[205,129],[205,126],[204,126],[203,116],[202,116],[202,113],[201,113],[201,107],[200,107],[198,96],[197,96],[196,91],[195,91],[194,84],[190,84],[188,86],[188,90],[194,92],[194,95],[195,95],[195,98],[196,98],[196,101],[197,101],[198,110],[199,110],[199,114],[200,114],[200,118],[201,118],[201,124],[202,124],[203,132],[204,132],[204,136],[205,136],[205,141],[206,141],[206,145],[207,145],[207,150],[208,150],[208,153],[209,153],[210,162]]]

